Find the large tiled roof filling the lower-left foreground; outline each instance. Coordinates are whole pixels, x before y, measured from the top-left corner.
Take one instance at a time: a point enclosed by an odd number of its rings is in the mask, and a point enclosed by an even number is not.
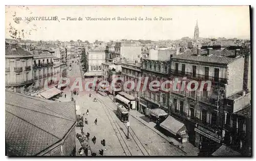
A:
[[[6,91],[9,155],[35,155],[61,140],[76,122],[74,102],[55,102]]]

